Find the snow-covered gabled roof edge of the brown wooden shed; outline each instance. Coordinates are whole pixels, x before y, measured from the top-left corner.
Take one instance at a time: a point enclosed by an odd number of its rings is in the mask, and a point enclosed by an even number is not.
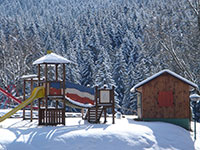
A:
[[[172,75],[172,76],[174,76],[174,77],[176,77],[176,78],[182,80],[183,82],[185,82],[185,83],[191,85],[192,87],[198,88],[197,84],[195,84],[195,83],[193,83],[193,82],[191,82],[191,81],[189,81],[189,80],[187,80],[187,79],[181,77],[180,75],[178,75],[178,74],[176,74],[176,73],[170,71],[169,69],[164,69],[164,70],[162,70],[162,71],[160,71],[160,72],[154,74],[153,76],[151,76],[151,77],[149,77],[149,78],[143,80],[142,82],[139,82],[138,84],[136,84],[136,85],[131,89],[131,92],[135,92],[135,90],[136,90],[137,88],[139,88],[140,86],[146,84],[147,82],[149,82],[149,81],[151,81],[151,80],[157,78],[158,76],[160,76],[160,75],[163,74],[163,73],[169,73],[170,75]]]

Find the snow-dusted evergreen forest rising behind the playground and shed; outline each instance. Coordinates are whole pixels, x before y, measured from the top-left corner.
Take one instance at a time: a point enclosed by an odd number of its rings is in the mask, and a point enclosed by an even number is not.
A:
[[[200,85],[199,35],[199,0],[0,0],[0,87],[20,91],[52,50],[77,64],[68,81],[114,85],[118,108],[132,114],[130,89],[162,69]]]

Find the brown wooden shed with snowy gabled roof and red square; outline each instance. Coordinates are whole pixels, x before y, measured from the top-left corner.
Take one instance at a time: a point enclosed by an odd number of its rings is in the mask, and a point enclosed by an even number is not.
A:
[[[198,86],[170,71],[162,70],[135,85],[138,118],[164,121],[190,129],[190,91]]]

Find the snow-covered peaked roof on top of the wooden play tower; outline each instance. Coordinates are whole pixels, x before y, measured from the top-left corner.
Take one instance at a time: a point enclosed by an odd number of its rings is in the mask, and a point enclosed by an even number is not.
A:
[[[55,53],[50,53],[34,61],[33,65],[45,64],[45,63],[47,64],[73,64],[73,62],[71,62],[70,60],[62,56],[59,56]]]

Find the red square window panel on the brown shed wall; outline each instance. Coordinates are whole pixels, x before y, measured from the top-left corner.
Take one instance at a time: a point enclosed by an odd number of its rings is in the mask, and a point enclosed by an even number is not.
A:
[[[172,91],[159,92],[159,94],[158,94],[158,105],[160,107],[173,106],[173,92]]]

